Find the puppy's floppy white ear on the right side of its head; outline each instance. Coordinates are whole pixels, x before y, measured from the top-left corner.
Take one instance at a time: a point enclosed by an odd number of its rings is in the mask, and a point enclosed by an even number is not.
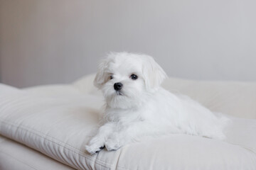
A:
[[[149,59],[146,60],[142,70],[146,88],[154,91],[167,78],[167,74],[152,57],[148,57]]]

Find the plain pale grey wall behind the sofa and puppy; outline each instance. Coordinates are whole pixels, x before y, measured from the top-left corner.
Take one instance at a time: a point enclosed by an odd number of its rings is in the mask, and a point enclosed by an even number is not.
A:
[[[171,77],[256,80],[255,0],[0,0],[1,82],[66,83],[110,51]]]

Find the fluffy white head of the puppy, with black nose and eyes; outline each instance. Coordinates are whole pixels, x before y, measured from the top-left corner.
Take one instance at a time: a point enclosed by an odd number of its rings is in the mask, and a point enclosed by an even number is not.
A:
[[[166,73],[148,55],[112,52],[99,65],[94,84],[111,108],[138,107],[155,93]]]

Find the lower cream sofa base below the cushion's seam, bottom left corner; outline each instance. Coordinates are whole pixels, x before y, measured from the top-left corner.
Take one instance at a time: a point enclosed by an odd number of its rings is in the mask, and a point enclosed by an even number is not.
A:
[[[53,161],[44,154],[2,136],[0,136],[0,169],[72,170],[69,166]]]

